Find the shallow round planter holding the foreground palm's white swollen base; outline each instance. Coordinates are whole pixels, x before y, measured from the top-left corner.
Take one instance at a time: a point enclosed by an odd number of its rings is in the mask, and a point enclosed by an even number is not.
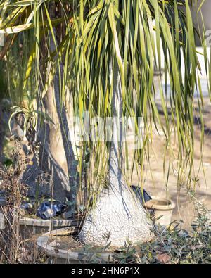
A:
[[[109,263],[112,260],[114,253],[103,253],[103,251],[98,250],[86,252],[84,247],[65,250],[57,244],[53,246],[53,239],[58,238],[58,236],[70,236],[74,232],[74,227],[66,227],[47,232],[37,239],[38,248],[49,257],[51,263],[56,264],[94,263],[95,260],[102,260],[103,262]]]

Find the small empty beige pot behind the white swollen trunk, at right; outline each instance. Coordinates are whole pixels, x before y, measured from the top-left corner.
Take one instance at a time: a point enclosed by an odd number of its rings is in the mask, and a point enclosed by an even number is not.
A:
[[[167,226],[172,219],[172,210],[175,208],[175,203],[168,198],[160,198],[152,196],[152,199],[144,206],[147,209],[155,209],[155,217],[160,217],[156,222],[160,225]]]

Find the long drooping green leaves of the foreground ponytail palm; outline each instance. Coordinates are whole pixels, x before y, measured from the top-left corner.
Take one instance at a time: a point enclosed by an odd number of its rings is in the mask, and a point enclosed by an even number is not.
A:
[[[143,117],[145,137],[143,148],[134,158],[141,164],[148,149],[152,125],[162,126],[170,146],[170,122],[177,128],[178,161],[191,180],[193,166],[193,96],[200,91],[195,33],[189,1],[79,1],[75,15],[77,32],[76,68],[79,114],[90,110],[91,115],[111,116],[113,71],[111,61],[117,60],[122,82],[124,116]],[[181,8],[183,6],[183,8]],[[204,42],[203,42],[204,43]],[[165,126],[155,104],[153,75],[155,67],[161,70],[164,56],[165,88],[160,87]],[[181,71],[184,63],[185,71]],[[167,79],[170,90],[167,90]],[[170,97],[167,108],[167,95]],[[88,103],[88,105],[87,105]],[[203,96],[198,106],[202,119]],[[167,110],[170,110],[170,115]],[[203,133],[203,129],[202,129]],[[139,134],[136,121],[136,134]],[[203,138],[203,134],[202,134]],[[96,144],[96,164],[102,149]],[[171,149],[170,149],[171,150]],[[127,153],[127,145],[125,146]],[[99,158],[101,157],[101,159]],[[180,169],[184,170],[184,169]]]

